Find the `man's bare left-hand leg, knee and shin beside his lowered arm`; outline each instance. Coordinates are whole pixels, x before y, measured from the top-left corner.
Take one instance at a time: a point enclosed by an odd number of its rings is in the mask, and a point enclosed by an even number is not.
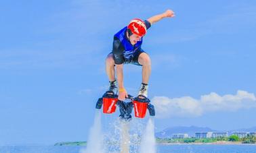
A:
[[[108,80],[110,82],[114,82],[114,59],[113,59],[113,54],[110,53],[108,57],[106,57],[106,73],[108,75]]]

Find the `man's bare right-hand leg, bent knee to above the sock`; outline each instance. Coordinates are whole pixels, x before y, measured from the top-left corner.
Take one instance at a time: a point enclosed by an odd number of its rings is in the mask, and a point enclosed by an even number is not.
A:
[[[141,53],[138,61],[142,65],[142,83],[148,84],[148,80],[151,73],[150,57],[146,53]]]

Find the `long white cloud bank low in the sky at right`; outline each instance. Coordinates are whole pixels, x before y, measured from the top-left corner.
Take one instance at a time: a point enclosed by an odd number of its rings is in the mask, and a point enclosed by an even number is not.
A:
[[[211,92],[202,95],[198,100],[190,96],[181,98],[155,96],[152,98],[152,104],[155,106],[158,118],[198,117],[209,112],[256,108],[256,97],[255,94],[238,90],[234,95],[224,96]]]

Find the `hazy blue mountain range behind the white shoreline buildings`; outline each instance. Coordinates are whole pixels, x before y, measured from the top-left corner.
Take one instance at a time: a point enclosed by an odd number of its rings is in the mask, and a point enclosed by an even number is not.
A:
[[[217,130],[211,129],[209,127],[177,126],[177,127],[169,127],[167,129],[164,129],[163,131],[156,132],[156,137],[168,138],[175,133],[187,133],[189,137],[194,137],[194,133],[196,132],[207,132],[207,131],[217,131]],[[244,129],[234,129],[234,130],[223,130],[223,131],[227,131],[229,135],[231,135],[233,131],[256,132],[256,127],[251,127],[247,129],[244,128]]]

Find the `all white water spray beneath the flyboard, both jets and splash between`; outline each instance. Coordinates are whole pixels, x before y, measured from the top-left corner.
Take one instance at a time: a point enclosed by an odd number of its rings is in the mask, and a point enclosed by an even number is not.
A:
[[[101,115],[100,110],[95,112],[87,147],[80,150],[80,153],[156,153],[154,118],[148,120],[146,128],[140,119],[132,121],[116,119],[113,123],[110,122],[102,133]]]

